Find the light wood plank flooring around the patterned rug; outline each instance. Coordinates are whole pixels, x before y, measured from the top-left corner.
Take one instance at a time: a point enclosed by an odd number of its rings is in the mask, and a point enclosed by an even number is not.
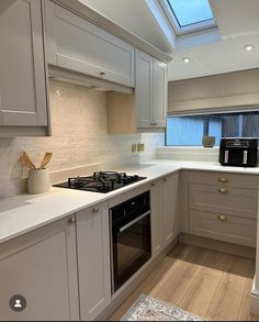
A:
[[[254,274],[251,259],[179,244],[110,320],[145,293],[206,320],[259,321],[249,313]]]

